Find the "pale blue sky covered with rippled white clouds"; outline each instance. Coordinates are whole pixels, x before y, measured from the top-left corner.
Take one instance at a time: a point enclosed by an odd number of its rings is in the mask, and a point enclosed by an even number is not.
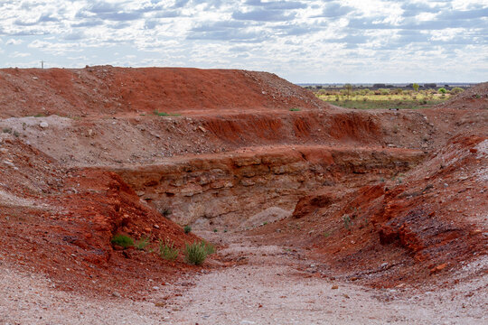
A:
[[[486,81],[488,0],[0,0],[0,66],[41,60],[293,82]]]

